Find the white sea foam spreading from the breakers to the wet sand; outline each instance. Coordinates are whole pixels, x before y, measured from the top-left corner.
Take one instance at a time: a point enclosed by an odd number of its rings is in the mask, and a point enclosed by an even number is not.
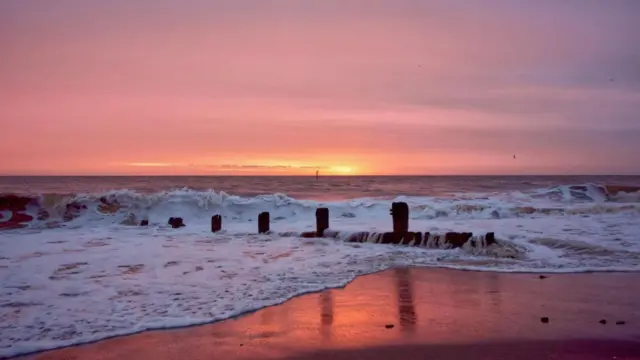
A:
[[[59,221],[52,216],[0,233],[0,357],[225,319],[395,266],[639,271],[638,199],[589,192],[318,203],[282,194],[120,190],[106,195],[126,208],[107,215],[96,210],[105,194],[56,199],[43,206],[79,201],[88,209],[57,228],[46,227]],[[392,201],[409,203],[413,230],[492,231],[500,245],[445,250],[341,241],[349,232],[388,231]],[[314,229],[318,206],[329,207],[338,239],[278,235]],[[273,235],[255,234],[261,211],[271,212]],[[130,212],[151,226],[121,225]],[[209,231],[213,214],[223,216],[221,233]],[[170,216],[187,226],[169,228]]]

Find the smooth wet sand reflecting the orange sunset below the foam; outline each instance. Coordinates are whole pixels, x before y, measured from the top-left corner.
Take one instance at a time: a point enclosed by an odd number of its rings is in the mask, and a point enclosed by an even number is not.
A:
[[[639,301],[636,273],[392,269],[236,319],[23,359],[640,359]]]

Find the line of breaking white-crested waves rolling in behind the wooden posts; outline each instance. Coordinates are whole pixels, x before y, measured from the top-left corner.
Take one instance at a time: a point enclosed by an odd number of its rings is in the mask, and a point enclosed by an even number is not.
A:
[[[169,217],[186,223],[206,223],[214,214],[225,221],[251,222],[263,211],[274,221],[308,220],[317,207],[332,217],[387,216],[393,201],[409,204],[412,219],[508,219],[520,217],[640,212],[640,187],[568,185],[534,191],[457,194],[449,197],[358,198],[335,202],[298,200],[276,193],[241,197],[214,190],[188,188],[152,194],[112,190],[95,194],[0,195],[0,229],[55,228],[85,223],[138,225],[142,220],[163,224]]]

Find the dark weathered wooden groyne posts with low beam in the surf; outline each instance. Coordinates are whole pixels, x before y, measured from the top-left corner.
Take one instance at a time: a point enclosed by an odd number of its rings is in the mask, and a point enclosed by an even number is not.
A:
[[[350,233],[346,237],[347,242],[375,242],[382,244],[401,244],[410,246],[426,246],[429,245],[442,247],[444,244],[450,247],[462,247],[471,241],[472,246],[483,246],[495,244],[495,235],[492,232],[483,234],[481,237],[473,237],[470,232],[447,232],[443,235],[432,235],[429,232],[412,232],[409,231],[409,205],[405,202],[394,202],[391,204],[390,214],[393,220],[393,231],[385,233],[371,232],[355,232]],[[329,229],[329,209],[316,209],[316,231],[307,231],[300,234],[301,237],[332,237],[337,238],[339,232],[330,231]],[[218,232],[222,230],[222,216],[214,215],[211,217],[211,231]],[[269,212],[262,212],[258,215],[258,233],[266,234],[270,232],[270,215]]]

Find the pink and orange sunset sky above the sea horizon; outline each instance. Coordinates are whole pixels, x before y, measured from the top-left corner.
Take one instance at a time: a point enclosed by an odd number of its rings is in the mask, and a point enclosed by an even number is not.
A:
[[[638,19],[637,0],[3,0],[0,174],[640,174]]]

